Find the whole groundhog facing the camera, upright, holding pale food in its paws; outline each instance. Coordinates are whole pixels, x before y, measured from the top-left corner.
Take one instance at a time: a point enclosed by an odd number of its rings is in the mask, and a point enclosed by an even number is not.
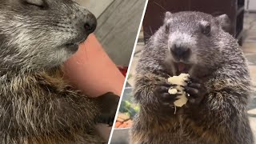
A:
[[[134,99],[141,110],[131,143],[254,143],[246,114],[250,75],[226,22],[226,14],[166,12],[138,62]],[[175,113],[178,94],[168,93],[167,78],[181,73],[190,74],[188,102]]]

